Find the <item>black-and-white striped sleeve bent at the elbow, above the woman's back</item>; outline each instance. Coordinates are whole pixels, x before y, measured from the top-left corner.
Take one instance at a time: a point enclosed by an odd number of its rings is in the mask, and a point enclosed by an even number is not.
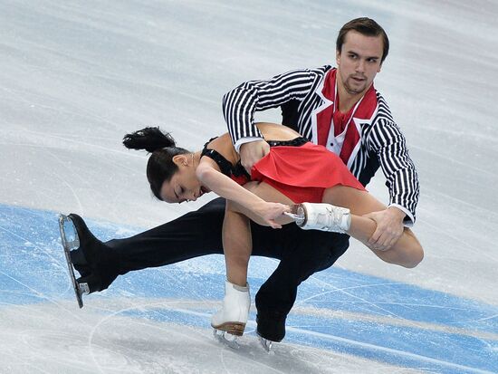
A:
[[[255,111],[276,108],[291,100],[302,101],[315,79],[311,70],[294,70],[269,80],[244,82],[225,93],[223,114],[235,148],[240,139],[263,138],[254,124]]]

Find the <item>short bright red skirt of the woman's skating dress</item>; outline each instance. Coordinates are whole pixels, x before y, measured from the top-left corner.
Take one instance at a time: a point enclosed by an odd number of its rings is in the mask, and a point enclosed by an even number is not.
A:
[[[251,169],[251,179],[269,184],[296,204],[321,203],[325,188],[337,185],[365,191],[335,153],[310,141],[300,147],[272,147]]]

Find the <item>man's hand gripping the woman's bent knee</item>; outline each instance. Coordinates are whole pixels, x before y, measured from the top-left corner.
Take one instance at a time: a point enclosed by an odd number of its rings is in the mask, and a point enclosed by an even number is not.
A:
[[[378,251],[387,251],[393,246],[403,234],[405,216],[405,212],[395,206],[365,215],[364,217],[373,219],[377,224],[377,230],[369,239],[369,247]]]

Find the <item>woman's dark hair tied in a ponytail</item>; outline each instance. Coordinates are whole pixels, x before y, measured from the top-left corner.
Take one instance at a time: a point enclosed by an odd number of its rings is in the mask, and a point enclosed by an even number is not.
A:
[[[127,149],[145,149],[152,153],[147,163],[147,179],[154,196],[162,200],[160,193],[163,183],[171,180],[178,170],[173,158],[189,153],[188,150],[176,147],[175,139],[169,132],[162,132],[158,127],[127,134],[123,144]]]

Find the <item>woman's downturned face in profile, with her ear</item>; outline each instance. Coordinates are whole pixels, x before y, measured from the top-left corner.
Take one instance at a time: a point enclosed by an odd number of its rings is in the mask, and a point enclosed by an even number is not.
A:
[[[177,155],[173,158],[178,170],[161,187],[161,198],[167,203],[181,204],[184,201],[196,201],[206,192],[196,177],[196,168],[192,154]]]

